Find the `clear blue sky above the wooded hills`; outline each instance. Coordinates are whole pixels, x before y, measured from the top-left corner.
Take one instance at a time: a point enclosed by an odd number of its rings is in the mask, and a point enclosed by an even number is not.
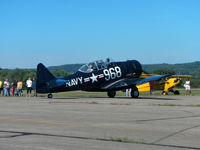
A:
[[[200,61],[199,0],[0,0],[0,68]]]

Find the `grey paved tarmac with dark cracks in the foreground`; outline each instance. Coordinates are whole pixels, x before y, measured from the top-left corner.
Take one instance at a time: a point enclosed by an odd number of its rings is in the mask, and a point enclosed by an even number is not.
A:
[[[200,150],[200,97],[0,97],[2,150]]]

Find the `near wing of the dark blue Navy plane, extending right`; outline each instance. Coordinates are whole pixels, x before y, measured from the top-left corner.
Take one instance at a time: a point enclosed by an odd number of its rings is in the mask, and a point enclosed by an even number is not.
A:
[[[150,76],[145,78],[123,78],[121,80],[112,82],[103,86],[102,90],[115,90],[115,89],[125,89],[133,85],[142,84],[145,82],[156,81],[162,78],[168,77],[170,75],[160,75],[160,76]]]

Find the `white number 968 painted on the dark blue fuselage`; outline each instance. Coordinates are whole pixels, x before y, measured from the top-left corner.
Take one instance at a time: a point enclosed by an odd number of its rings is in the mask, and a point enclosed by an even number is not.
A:
[[[121,69],[118,66],[116,66],[115,68],[104,69],[103,73],[105,75],[106,81],[110,79],[120,78],[122,76]]]

